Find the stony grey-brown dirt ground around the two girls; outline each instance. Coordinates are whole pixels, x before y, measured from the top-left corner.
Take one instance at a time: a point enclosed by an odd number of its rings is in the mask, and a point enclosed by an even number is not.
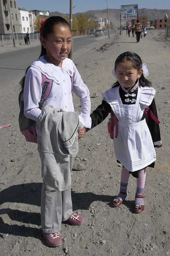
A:
[[[101,50],[99,50],[101,49]],[[78,163],[84,171],[72,177],[73,210],[85,217],[82,226],[62,224],[62,245],[49,247],[41,236],[41,163],[37,145],[25,141],[18,128],[18,84],[0,94],[0,237],[1,256],[19,255],[170,255],[169,141],[170,141],[170,42],[148,31],[136,44],[135,37],[112,36],[98,41],[74,55],[76,64],[91,96],[92,110],[102,100],[102,93],[115,82],[112,66],[116,57],[134,51],[148,65],[150,80],[156,89],[156,104],[161,121],[162,148],[156,148],[155,168],[147,168],[145,210],[133,213],[136,180],[129,179],[128,197],[120,208],[112,200],[119,192],[121,165],[116,163],[113,141],[107,133],[107,120],[79,141]],[[75,110],[80,110],[74,96]],[[1,124],[1,125],[2,125]]]

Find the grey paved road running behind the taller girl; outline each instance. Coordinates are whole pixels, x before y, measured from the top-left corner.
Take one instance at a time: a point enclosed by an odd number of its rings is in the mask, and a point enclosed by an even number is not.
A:
[[[113,35],[114,31],[110,31],[110,35]],[[104,32],[104,36],[107,36],[108,32]],[[94,44],[98,40],[102,40],[102,36],[83,36],[75,37],[73,39],[74,52],[83,50],[86,46]],[[13,88],[13,85],[18,83],[21,77],[25,73],[25,69],[36,59],[38,59],[41,52],[40,46],[31,47],[28,49],[21,49],[18,51],[5,52],[0,54],[0,89],[3,93],[8,87],[9,90]]]

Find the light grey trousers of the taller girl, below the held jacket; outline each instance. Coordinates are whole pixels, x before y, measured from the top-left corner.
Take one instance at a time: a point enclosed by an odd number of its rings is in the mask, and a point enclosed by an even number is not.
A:
[[[38,152],[41,158],[41,137],[37,136]],[[70,170],[72,170],[74,158],[70,159]],[[43,180],[41,190],[41,228],[44,233],[56,233],[61,230],[61,223],[73,213],[71,201],[71,186],[58,191],[46,185]]]

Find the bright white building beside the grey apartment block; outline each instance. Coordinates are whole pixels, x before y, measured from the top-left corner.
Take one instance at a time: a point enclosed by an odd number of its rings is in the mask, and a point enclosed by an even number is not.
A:
[[[20,24],[20,32],[26,33],[34,33],[33,28],[33,13],[31,11],[27,11],[21,8],[18,8],[19,11],[19,24]]]

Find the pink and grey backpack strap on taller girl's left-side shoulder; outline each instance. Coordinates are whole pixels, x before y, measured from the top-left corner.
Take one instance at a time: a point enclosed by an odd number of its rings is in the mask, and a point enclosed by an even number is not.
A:
[[[42,108],[42,105],[44,104],[44,101],[47,99],[48,94],[50,93],[51,86],[52,86],[52,79],[47,78],[44,74],[41,73],[42,76],[42,94],[41,94],[41,100],[39,102],[39,108]]]

